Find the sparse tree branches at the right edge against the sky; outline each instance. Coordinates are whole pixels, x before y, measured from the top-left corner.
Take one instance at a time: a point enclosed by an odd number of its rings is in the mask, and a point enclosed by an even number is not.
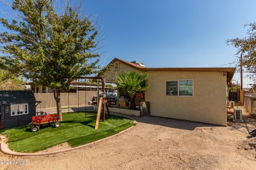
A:
[[[249,77],[256,81],[256,23],[246,24],[245,27],[249,27],[246,37],[228,39],[226,43],[238,48],[236,54],[242,54],[242,65],[247,72],[252,73]]]

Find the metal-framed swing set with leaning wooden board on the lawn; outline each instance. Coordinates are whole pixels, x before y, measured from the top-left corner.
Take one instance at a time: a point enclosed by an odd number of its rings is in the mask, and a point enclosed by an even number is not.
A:
[[[95,129],[97,130],[99,128],[100,123],[100,115],[101,115],[101,109],[102,109],[102,122],[105,122],[105,107],[107,108],[108,117],[110,117],[109,109],[108,109],[108,102],[107,102],[107,96],[105,92],[105,78],[104,77],[79,77],[79,79],[100,79],[101,80],[101,88],[102,88],[102,95],[99,98],[98,94],[98,88],[99,83],[97,83],[97,100],[98,100],[98,112],[97,112],[97,118],[95,123]],[[78,79],[78,88],[79,88],[79,79]],[[98,81],[97,81],[98,82]],[[90,91],[91,91],[91,84],[90,84]],[[77,90],[78,93],[78,106],[77,106],[77,113],[80,113],[79,109],[79,90]],[[87,117],[87,107],[86,107],[86,84],[85,84],[85,118]],[[69,90],[68,90],[68,114],[69,114]],[[95,107],[95,114],[96,114],[96,107]]]

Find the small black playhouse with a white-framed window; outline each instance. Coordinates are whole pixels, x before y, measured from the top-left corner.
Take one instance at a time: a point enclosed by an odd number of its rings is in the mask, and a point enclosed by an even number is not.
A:
[[[36,103],[31,91],[0,91],[0,128],[28,125],[36,115]]]

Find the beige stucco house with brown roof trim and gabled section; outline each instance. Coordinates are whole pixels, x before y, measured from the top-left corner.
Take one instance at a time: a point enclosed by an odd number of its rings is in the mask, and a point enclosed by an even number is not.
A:
[[[227,125],[227,87],[234,67],[148,68],[140,62],[114,58],[104,76],[114,82],[116,72],[134,70],[148,74],[145,101],[150,114],[181,120]]]

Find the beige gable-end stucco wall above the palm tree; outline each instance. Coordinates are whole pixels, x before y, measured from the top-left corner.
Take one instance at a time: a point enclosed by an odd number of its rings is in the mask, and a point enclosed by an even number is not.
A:
[[[119,70],[115,70],[115,69],[114,69],[114,66],[113,66],[113,67],[111,67],[110,70],[107,70],[107,71],[104,73],[106,82],[114,82],[113,80],[114,80],[115,77],[116,77],[116,72],[118,72],[118,71],[124,71],[124,70],[138,71],[137,69],[133,69],[133,67],[130,67],[130,66],[126,65],[126,64],[119,63]],[[138,71],[138,72],[140,72],[140,71]]]

